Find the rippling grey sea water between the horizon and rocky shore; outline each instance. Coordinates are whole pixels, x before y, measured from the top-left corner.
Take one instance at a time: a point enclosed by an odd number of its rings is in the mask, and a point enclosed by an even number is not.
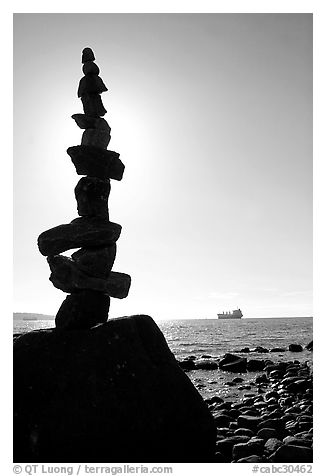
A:
[[[307,345],[313,338],[313,319],[311,317],[298,318],[270,318],[270,319],[182,319],[157,321],[167,343],[177,359],[190,355],[201,358],[209,355],[212,360],[218,359],[226,352],[239,352],[243,347],[255,348],[258,346],[272,349],[283,347],[288,349],[289,344]],[[53,320],[14,321],[14,333],[28,332],[35,329],[54,327]],[[239,354],[242,355],[242,354]],[[307,362],[312,368],[312,352],[304,349],[302,352],[273,352],[243,354],[248,359],[270,359],[272,361]],[[243,385],[253,385],[257,374],[248,372],[241,374]],[[187,372],[188,377],[198,391],[205,397],[219,395],[224,399],[238,399],[250,389],[239,390],[238,386],[230,386],[230,381],[239,374],[217,370],[192,370]],[[252,388],[254,390],[254,386]]]

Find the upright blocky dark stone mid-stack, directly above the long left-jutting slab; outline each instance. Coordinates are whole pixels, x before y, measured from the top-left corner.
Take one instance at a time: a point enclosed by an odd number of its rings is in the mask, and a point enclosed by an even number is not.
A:
[[[82,177],[75,187],[78,215],[108,217],[110,190],[109,180],[101,180],[97,177]]]

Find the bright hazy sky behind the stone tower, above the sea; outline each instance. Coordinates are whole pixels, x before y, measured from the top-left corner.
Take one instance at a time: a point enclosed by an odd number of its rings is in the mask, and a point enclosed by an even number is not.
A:
[[[271,13],[15,15],[14,311],[65,297],[36,242],[77,217],[86,46],[126,166],[110,315],[312,315],[312,15]]]

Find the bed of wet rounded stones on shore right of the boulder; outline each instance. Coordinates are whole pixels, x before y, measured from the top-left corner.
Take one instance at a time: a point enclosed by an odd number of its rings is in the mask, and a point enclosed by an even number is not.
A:
[[[251,381],[256,392],[240,401],[205,400],[217,427],[215,462],[312,462],[310,368],[298,361],[266,362],[264,371]]]

